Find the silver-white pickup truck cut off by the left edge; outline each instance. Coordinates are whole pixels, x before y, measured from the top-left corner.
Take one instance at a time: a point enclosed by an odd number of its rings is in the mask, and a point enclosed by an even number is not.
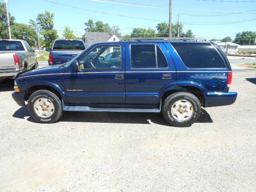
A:
[[[38,68],[35,51],[24,40],[0,39],[0,82]]]

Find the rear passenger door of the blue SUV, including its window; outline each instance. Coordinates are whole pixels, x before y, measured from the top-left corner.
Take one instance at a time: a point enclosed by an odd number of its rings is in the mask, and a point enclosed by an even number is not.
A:
[[[162,42],[127,42],[126,104],[156,106],[166,86],[176,84],[176,67]]]

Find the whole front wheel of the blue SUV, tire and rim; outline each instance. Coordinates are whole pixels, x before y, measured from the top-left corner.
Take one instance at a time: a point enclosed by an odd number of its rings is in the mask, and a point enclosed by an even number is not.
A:
[[[40,123],[54,123],[63,113],[60,98],[47,90],[38,90],[28,98],[28,111]]]

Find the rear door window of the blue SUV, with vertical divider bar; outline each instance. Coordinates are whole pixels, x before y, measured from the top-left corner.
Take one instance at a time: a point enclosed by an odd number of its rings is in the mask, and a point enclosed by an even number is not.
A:
[[[155,44],[131,45],[132,68],[168,68],[162,50]]]

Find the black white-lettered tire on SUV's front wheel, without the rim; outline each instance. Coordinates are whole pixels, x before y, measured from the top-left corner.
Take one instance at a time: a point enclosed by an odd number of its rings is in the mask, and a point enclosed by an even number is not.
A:
[[[51,116],[42,117],[36,113],[36,109],[34,108],[34,103],[40,98],[46,98],[47,100],[50,100],[50,102],[53,104],[54,110]],[[30,97],[28,98],[28,111],[31,117],[40,123],[54,123],[58,121],[63,114],[62,103],[60,101],[60,98],[58,98],[56,94],[48,90],[38,90],[30,95]]]

